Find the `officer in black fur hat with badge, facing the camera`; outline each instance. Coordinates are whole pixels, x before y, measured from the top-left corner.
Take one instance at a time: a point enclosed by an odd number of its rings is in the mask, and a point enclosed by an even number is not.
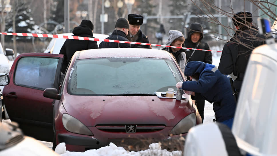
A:
[[[128,21],[130,24],[129,33],[127,38],[131,42],[141,42],[141,43],[150,43],[147,36],[145,36],[140,30],[141,25],[143,24],[143,16],[139,14],[129,14]],[[149,45],[140,45],[140,44],[131,44],[132,48],[149,48],[152,47]]]

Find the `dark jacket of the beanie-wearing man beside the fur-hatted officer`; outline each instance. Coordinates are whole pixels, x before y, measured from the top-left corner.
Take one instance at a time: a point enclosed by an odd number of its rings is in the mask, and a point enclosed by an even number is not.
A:
[[[107,37],[109,40],[129,41],[127,36],[121,30],[114,30],[112,34]],[[131,48],[130,43],[116,43],[116,42],[101,42],[99,48]]]

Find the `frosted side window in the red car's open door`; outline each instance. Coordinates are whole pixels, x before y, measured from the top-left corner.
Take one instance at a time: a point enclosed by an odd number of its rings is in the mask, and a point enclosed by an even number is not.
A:
[[[53,88],[58,61],[58,58],[23,57],[17,61],[14,83],[40,90]]]

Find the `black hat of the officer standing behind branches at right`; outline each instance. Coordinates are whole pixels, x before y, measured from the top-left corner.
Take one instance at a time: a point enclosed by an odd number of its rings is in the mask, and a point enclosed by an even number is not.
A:
[[[253,21],[252,13],[247,11],[237,12],[232,17],[232,20],[235,26],[240,26],[242,24],[247,25],[247,22],[252,23]]]

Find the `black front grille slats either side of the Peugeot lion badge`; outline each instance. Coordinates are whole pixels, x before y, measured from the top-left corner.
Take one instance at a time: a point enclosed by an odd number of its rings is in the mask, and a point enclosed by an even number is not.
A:
[[[96,125],[96,128],[105,132],[126,132],[125,125]],[[136,125],[136,133],[156,132],[164,128],[165,125]]]

